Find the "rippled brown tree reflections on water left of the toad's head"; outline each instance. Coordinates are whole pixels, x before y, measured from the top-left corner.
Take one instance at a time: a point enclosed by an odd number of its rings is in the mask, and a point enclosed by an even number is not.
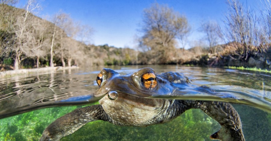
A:
[[[0,106],[5,107],[0,110],[0,114],[55,103],[73,96],[89,95],[96,90],[92,79],[86,75],[74,74],[71,69],[21,77],[12,77],[4,81],[7,84],[0,85],[4,89],[0,91]]]

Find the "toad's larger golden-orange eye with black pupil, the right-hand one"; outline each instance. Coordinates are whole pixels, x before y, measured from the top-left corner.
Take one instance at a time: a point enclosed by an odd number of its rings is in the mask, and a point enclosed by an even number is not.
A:
[[[145,88],[148,88],[150,90],[155,88],[157,85],[156,76],[152,72],[144,73],[141,76],[141,82],[143,82]]]

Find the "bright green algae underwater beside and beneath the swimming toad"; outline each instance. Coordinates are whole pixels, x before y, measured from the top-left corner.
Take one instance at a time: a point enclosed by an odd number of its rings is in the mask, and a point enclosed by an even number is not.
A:
[[[0,140],[39,140],[51,122],[76,108],[47,108],[1,119]],[[204,140],[219,128],[217,122],[200,110],[188,110],[171,122],[148,127],[120,127],[96,121],[62,140]]]

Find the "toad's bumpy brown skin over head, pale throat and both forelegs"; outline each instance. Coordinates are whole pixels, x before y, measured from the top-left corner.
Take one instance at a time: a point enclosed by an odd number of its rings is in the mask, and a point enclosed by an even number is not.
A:
[[[140,84],[142,74],[154,71],[151,68],[143,68],[132,75],[120,76],[111,69],[103,69],[102,81],[98,82],[97,95],[109,90],[118,91],[118,98],[110,100],[105,95],[99,103],[89,107],[79,108],[70,112],[49,125],[42,134],[40,140],[60,140],[62,137],[72,134],[88,122],[103,120],[120,126],[149,126],[169,122],[188,109],[201,109],[221,125],[221,129],[210,136],[211,139],[223,141],[245,140],[241,121],[238,113],[229,104],[215,101],[149,99],[135,97],[129,94],[144,95],[155,92],[168,93],[168,84],[180,80],[187,83],[187,77],[181,73],[155,74],[157,89],[144,89]],[[99,75],[98,75],[99,76]],[[101,75],[100,75],[101,76]],[[99,84],[100,83],[100,84]],[[161,91],[163,90],[163,91]],[[125,92],[125,93],[124,93]]]

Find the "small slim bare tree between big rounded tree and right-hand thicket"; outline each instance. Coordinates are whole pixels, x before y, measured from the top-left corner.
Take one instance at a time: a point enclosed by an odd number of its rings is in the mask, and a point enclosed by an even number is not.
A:
[[[216,53],[216,48],[223,38],[222,30],[215,21],[202,22],[201,32],[205,33],[205,40],[209,43],[211,53]]]

